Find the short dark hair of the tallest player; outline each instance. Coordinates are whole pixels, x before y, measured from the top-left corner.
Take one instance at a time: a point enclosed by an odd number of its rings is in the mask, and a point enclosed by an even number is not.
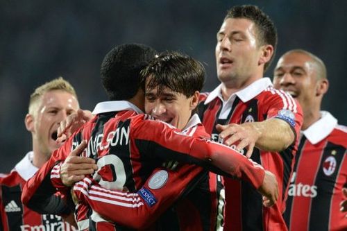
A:
[[[269,62],[264,65],[264,70],[271,64],[276,53],[277,46],[277,30],[273,21],[270,19],[269,15],[266,15],[260,8],[252,5],[234,6],[228,10],[226,19],[249,19],[254,22],[257,32],[257,42],[258,44],[265,45],[270,44],[273,46],[273,55]]]

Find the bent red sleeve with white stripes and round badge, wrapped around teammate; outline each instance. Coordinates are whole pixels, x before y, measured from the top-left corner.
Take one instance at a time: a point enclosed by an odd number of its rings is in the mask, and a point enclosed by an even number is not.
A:
[[[81,203],[90,205],[103,218],[137,230],[156,221],[188,190],[188,185],[199,179],[202,171],[187,164],[177,171],[157,168],[136,193],[105,189],[91,178],[85,178],[76,183],[74,193]]]

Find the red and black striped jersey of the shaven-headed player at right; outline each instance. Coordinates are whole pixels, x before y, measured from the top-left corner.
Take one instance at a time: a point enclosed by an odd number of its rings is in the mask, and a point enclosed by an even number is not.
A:
[[[339,211],[347,187],[346,148],[347,128],[329,112],[302,132],[285,212],[289,230],[347,230]]]

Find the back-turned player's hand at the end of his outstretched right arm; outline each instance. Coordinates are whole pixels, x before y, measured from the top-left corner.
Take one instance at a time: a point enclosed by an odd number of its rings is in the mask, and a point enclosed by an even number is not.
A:
[[[270,171],[265,170],[265,177],[262,185],[258,191],[263,196],[263,205],[265,207],[271,207],[275,205],[278,200],[278,183],[275,175]]]

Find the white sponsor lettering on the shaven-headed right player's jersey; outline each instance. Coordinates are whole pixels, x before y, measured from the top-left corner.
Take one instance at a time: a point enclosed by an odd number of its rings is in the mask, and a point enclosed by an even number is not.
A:
[[[291,184],[289,185],[288,196],[304,196],[314,198],[317,196],[316,185],[304,185],[299,182],[295,184],[296,172],[291,176]]]

